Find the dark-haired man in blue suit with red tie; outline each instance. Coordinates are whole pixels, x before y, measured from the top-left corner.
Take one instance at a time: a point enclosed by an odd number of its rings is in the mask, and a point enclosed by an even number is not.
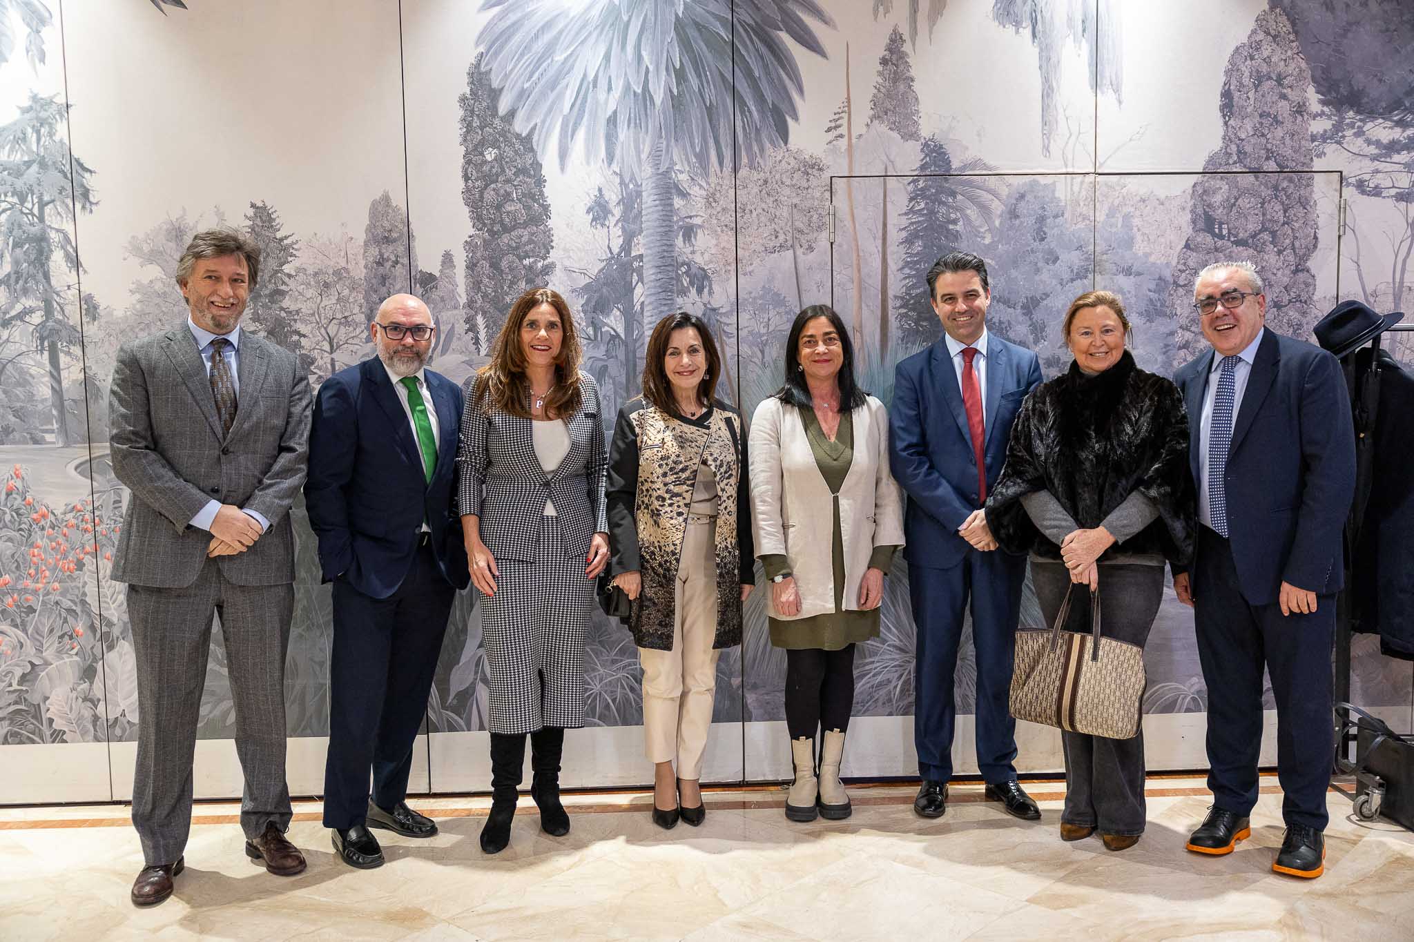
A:
[[[1001,473],[1017,410],[1041,383],[1036,354],[987,332],[981,258],[954,251],[928,273],[945,336],[901,362],[889,408],[889,465],[908,491],[908,585],[918,624],[913,744],[923,780],[913,811],[940,818],[953,774],[953,675],[963,614],[977,654],[977,768],[987,798],[1027,821],[1041,811],[1017,782],[1008,709],[1025,556],[997,548],[981,507]]]

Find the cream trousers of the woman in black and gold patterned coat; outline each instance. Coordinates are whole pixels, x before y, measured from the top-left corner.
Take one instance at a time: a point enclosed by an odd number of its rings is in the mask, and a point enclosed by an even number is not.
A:
[[[639,648],[643,665],[643,734],[650,763],[677,760],[677,777],[701,775],[711,702],[717,689],[715,521],[693,523],[683,535],[683,555],[673,589],[673,650]]]

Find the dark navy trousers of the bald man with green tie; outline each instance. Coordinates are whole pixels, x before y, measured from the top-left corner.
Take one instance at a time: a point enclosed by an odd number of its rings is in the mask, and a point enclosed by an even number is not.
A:
[[[334,582],[325,828],[363,823],[369,768],[379,808],[407,797],[413,743],[427,717],[454,595],[427,545],[419,545],[403,583],[386,599],[363,595],[346,579]]]

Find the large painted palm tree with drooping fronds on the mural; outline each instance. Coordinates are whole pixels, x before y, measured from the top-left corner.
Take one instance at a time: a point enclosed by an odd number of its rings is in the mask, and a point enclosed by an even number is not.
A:
[[[561,168],[583,140],[590,162],[642,185],[642,311],[676,309],[674,171],[706,177],[785,145],[805,93],[786,40],[824,56],[809,21],[833,20],[816,0],[484,0],[481,8],[495,11],[478,41],[516,130],[542,155],[554,144]]]

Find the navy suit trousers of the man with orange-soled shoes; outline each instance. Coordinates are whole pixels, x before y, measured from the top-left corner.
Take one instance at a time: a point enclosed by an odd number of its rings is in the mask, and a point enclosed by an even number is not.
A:
[[[1335,596],[1316,596],[1311,614],[1249,604],[1226,539],[1198,528],[1193,606],[1198,657],[1208,684],[1208,788],[1213,804],[1247,815],[1257,804],[1266,665],[1277,700],[1277,777],[1288,825],[1326,826],[1326,787],[1335,761],[1331,647]]]

